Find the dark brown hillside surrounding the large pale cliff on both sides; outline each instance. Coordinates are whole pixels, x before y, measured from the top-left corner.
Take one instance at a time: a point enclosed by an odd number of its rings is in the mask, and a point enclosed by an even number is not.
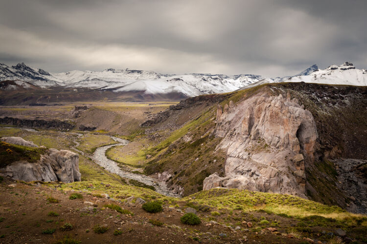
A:
[[[145,150],[146,154],[153,155],[147,162],[147,174],[161,173],[161,177],[181,191],[184,195],[201,190],[203,181],[209,175],[217,172],[219,177],[224,177],[226,168],[226,149],[218,145],[223,137],[214,136],[216,127],[217,103],[222,107],[228,106],[229,101],[234,105],[245,102],[259,94],[271,94],[283,97],[290,96],[299,101],[313,115],[318,138],[315,144],[314,160],[305,160],[305,188],[304,194],[316,201],[326,204],[338,204],[354,211],[366,211],[363,194],[358,200],[355,194],[343,188],[343,180],[339,172],[340,166],[335,160],[356,159],[353,167],[355,174],[360,178],[357,184],[363,192],[363,165],[367,159],[364,148],[366,147],[367,114],[364,107],[367,104],[366,87],[332,86],[312,83],[277,83],[256,86],[250,89],[228,94],[226,98],[211,103],[211,106],[191,115],[195,118],[180,129],[174,131],[170,137],[159,145]],[[288,94],[288,95],[287,95]],[[203,96],[203,100],[206,96]],[[186,100],[186,103],[192,99]],[[209,100],[210,101],[210,100]],[[179,105],[176,105],[179,106]],[[182,116],[188,108],[175,109]],[[157,118],[164,118],[157,116]],[[173,114],[173,113],[171,113]],[[172,115],[171,115],[172,116]],[[171,127],[175,122],[171,122]],[[148,122],[151,128],[159,130],[166,124],[164,120]],[[351,126],[353,125],[353,126]],[[263,144],[262,144],[263,143]],[[269,143],[269,142],[266,142]],[[258,149],[267,150],[265,142],[259,142]],[[264,148],[263,148],[264,147]],[[305,157],[306,158],[306,157]],[[358,163],[359,162],[359,163]],[[362,165],[362,166],[361,166]],[[357,169],[358,168],[358,169]],[[261,173],[260,173],[261,174]],[[183,187],[183,188],[182,188]],[[350,199],[355,199],[353,202]]]

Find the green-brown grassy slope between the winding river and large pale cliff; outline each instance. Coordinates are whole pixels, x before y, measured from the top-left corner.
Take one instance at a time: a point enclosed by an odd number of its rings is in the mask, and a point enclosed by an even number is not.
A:
[[[221,105],[247,99],[263,88],[264,85],[229,93],[229,98]],[[146,154],[154,157],[145,168],[145,173],[169,171],[173,177],[168,183],[184,186],[184,195],[202,190],[204,179],[214,172],[223,176],[226,154],[223,150],[215,150],[221,141],[221,138],[212,135],[215,116],[216,104],[147,150]]]

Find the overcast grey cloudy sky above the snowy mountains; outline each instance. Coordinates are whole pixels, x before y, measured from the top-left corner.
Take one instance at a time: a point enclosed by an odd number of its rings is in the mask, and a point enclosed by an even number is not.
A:
[[[48,72],[367,68],[366,0],[0,0],[0,62]]]

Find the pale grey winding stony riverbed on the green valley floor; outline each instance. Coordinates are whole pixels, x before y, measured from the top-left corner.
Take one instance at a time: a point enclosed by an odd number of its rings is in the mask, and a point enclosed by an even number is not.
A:
[[[106,170],[108,170],[111,173],[114,173],[116,175],[119,175],[123,178],[127,178],[127,179],[133,179],[133,180],[137,180],[139,182],[145,183],[147,185],[152,185],[156,188],[156,191],[166,195],[166,196],[170,196],[170,197],[178,197],[177,194],[173,193],[172,191],[170,191],[167,188],[167,185],[164,182],[158,182],[155,179],[146,176],[146,175],[139,175],[139,174],[134,174],[128,171],[124,171],[123,169],[121,169],[117,163],[113,160],[110,160],[106,157],[106,150],[109,149],[110,147],[113,146],[120,146],[120,145],[126,145],[129,143],[129,141],[117,138],[117,137],[113,137],[110,136],[114,141],[119,142],[117,144],[112,144],[112,145],[107,145],[107,146],[101,146],[98,147],[94,154],[93,154],[93,161],[97,164],[99,164],[100,166],[104,167]]]

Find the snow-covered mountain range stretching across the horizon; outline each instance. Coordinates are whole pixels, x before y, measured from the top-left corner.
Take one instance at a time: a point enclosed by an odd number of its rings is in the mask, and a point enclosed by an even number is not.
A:
[[[266,78],[261,75],[223,74],[160,74],[154,71],[131,69],[105,69],[103,71],[73,70],[65,73],[49,73],[43,69],[18,63],[7,66],[0,63],[2,90],[65,87],[90,88],[116,93],[139,92],[145,95],[181,94],[194,97],[202,94],[225,93],[249,85],[272,82],[311,82],[326,84],[367,85],[367,70],[357,69],[350,62],[319,69],[316,64],[295,76]],[[8,81],[4,83],[4,81]],[[9,82],[9,81],[16,81]]]

